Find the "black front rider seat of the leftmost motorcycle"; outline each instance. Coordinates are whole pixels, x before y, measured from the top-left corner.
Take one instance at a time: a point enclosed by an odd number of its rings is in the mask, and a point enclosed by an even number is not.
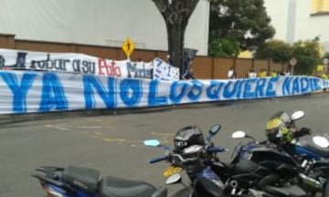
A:
[[[130,181],[106,176],[101,180],[100,197],[164,197],[166,188],[156,189],[145,181]]]

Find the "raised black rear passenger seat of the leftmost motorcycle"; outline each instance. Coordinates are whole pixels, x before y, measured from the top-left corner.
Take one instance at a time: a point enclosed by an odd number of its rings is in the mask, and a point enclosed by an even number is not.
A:
[[[100,172],[94,169],[69,166],[63,171],[62,181],[85,192],[96,192]]]

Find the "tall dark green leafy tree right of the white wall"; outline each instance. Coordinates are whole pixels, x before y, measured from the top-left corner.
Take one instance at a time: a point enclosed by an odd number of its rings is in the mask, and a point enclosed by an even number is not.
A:
[[[255,50],[274,36],[270,23],[263,0],[211,0],[209,46],[228,39],[237,41],[240,50]]]

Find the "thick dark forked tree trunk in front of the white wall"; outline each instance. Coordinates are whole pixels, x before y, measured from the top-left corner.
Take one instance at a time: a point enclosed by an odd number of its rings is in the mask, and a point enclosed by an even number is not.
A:
[[[184,65],[184,37],[189,17],[199,0],[153,0],[164,17],[168,36],[168,52],[175,67],[182,72]]]

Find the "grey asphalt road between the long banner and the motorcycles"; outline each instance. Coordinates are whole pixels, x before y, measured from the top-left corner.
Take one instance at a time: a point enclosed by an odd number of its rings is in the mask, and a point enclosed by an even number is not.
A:
[[[167,164],[149,164],[163,150],[144,147],[143,140],[158,139],[172,145],[176,130],[197,125],[207,130],[216,123],[222,129],[215,143],[232,150],[235,130],[245,130],[257,139],[264,138],[266,120],[276,111],[302,109],[299,121],[313,133],[326,133],[329,120],[329,94],[313,94],[293,99],[263,99],[208,104],[183,109],[125,115],[66,117],[3,125],[0,128],[0,196],[45,196],[30,174],[38,166],[78,165],[132,180],[164,185],[162,172]],[[228,160],[230,151],[221,155]],[[169,188],[171,190],[171,188]],[[174,191],[175,188],[172,190]]]

